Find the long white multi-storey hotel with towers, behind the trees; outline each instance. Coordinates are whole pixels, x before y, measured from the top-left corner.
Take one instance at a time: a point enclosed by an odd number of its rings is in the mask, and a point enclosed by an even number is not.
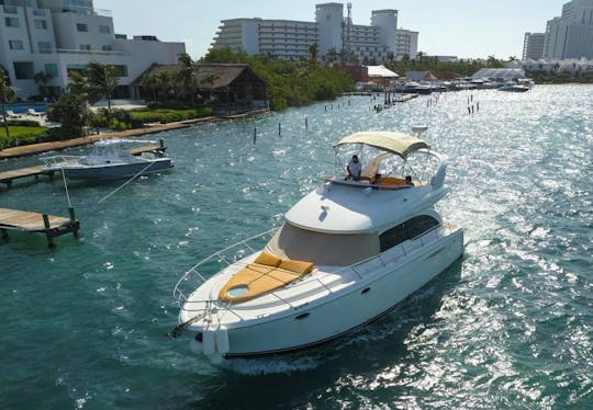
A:
[[[374,10],[371,25],[358,25],[344,16],[343,3],[324,3],[316,5],[315,22],[233,19],[223,20],[219,29],[212,48],[228,46],[248,55],[300,59],[309,56],[309,48],[315,43],[318,56],[345,50],[359,61],[382,61],[390,56],[417,53],[417,32],[405,31],[399,36],[398,10]],[[413,38],[407,38],[410,35]],[[404,46],[412,48],[403,49]]]

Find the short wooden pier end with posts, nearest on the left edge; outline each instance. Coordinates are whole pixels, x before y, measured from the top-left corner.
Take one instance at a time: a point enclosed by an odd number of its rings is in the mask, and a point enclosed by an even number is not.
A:
[[[76,219],[74,208],[69,207],[69,218],[26,210],[0,208],[0,235],[8,239],[9,230],[45,234],[47,244],[54,247],[54,238],[72,232],[78,236],[80,223]]]

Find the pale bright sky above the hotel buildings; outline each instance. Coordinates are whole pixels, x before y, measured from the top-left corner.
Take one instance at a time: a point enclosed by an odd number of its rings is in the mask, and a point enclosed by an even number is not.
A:
[[[111,11],[116,34],[182,42],[194,59],[208,53],[222,20],[315,21],[315,4],[339,0],[94,0]],[[348,1],[344,1],[346,4]],[[350,0],[355,24],[372,10],[399,11],[398,27],[419,32],[418,52],[459,58],[521,58],[526,32],[544,33],[568,0]],[[346,13],[346,5],[344,7]]]

